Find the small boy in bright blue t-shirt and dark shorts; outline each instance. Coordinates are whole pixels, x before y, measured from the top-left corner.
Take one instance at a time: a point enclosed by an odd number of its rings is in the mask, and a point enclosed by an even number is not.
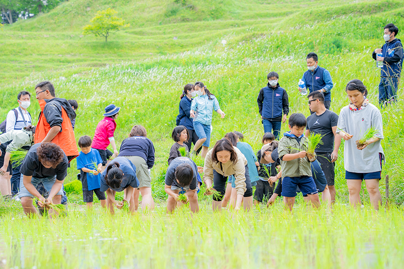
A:
[[[105,193],[100,191],[101,168],[103,160],[98,150],[91,148],[91,137],[84,135],[79,138],[80,153],[77,157],[77,169],[80,170],[80,180],[83,188],[83,201],[88,208],[92,208],[93,192],[102,207],[106,206]],[[95,164],[97,163],[97,167]]]

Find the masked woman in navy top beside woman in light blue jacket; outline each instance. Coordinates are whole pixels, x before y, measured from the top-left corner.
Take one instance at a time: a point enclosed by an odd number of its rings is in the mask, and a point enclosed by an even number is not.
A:
[[[185,128],[188,130],[188,140],[184,142],[188,149],[191,148],[192,143],[195,145],[196,141],[199,139],[195,133],[195,130],[193,129],[193,120],[190,118],[189,113],[191,110],[192,100],[195,97],[196,91],[194,90],[193,84],[186,84],[180,96],[181,101],[179,105],[179,114],[176,119],[177,126],[185,126]],[[200,149],[201,148],[197,150],[197,153],[199,153]]]

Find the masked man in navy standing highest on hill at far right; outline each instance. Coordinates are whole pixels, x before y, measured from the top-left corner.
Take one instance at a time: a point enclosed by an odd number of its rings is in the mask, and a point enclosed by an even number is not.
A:
[[[379,83],[379,104],[386,105],[396,101],[398,82],[401,75],[403,49],[401,40],[395,38],[398,28],[392,23],[384,26],[384,41],[382,48],[376,48],[372,53],[374,60],[382,62]],[[381,53],[382,56],[377,56]]]

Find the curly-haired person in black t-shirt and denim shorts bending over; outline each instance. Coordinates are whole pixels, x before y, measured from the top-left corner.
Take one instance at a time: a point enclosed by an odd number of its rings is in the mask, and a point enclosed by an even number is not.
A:
[[[62,184],[67,176],[68,163],[66,154],[55,143],[37,143],[30,148],[21,164],[20,192],[18,193],[25,214],[37,213],[32,204],[34,196],[39,199],[38,204],[41,207],[61,203]],[[43,197],[36,190],[36,186],[40,183],[48,193],[47,197]],[[49,214],[57,214],[57,212],[51,209]]]

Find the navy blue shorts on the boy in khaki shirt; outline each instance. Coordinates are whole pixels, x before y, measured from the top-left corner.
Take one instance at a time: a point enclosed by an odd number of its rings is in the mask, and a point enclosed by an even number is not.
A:
[[[281,195],[284,197],[295,197],[297,187],[299,187],[301,194],[303,195],[311,195],[319,192],[312,177],[284,177],[282,179]]]

